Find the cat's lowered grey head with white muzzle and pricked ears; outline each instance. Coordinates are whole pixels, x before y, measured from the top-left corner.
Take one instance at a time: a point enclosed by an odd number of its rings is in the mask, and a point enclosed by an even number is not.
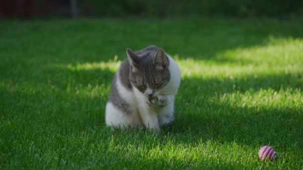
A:
[[[170,79],[168,58],[163,49],[138,56],[129,48],[126,50],[130,63],[132,85],[147,97],[156,96]]]

